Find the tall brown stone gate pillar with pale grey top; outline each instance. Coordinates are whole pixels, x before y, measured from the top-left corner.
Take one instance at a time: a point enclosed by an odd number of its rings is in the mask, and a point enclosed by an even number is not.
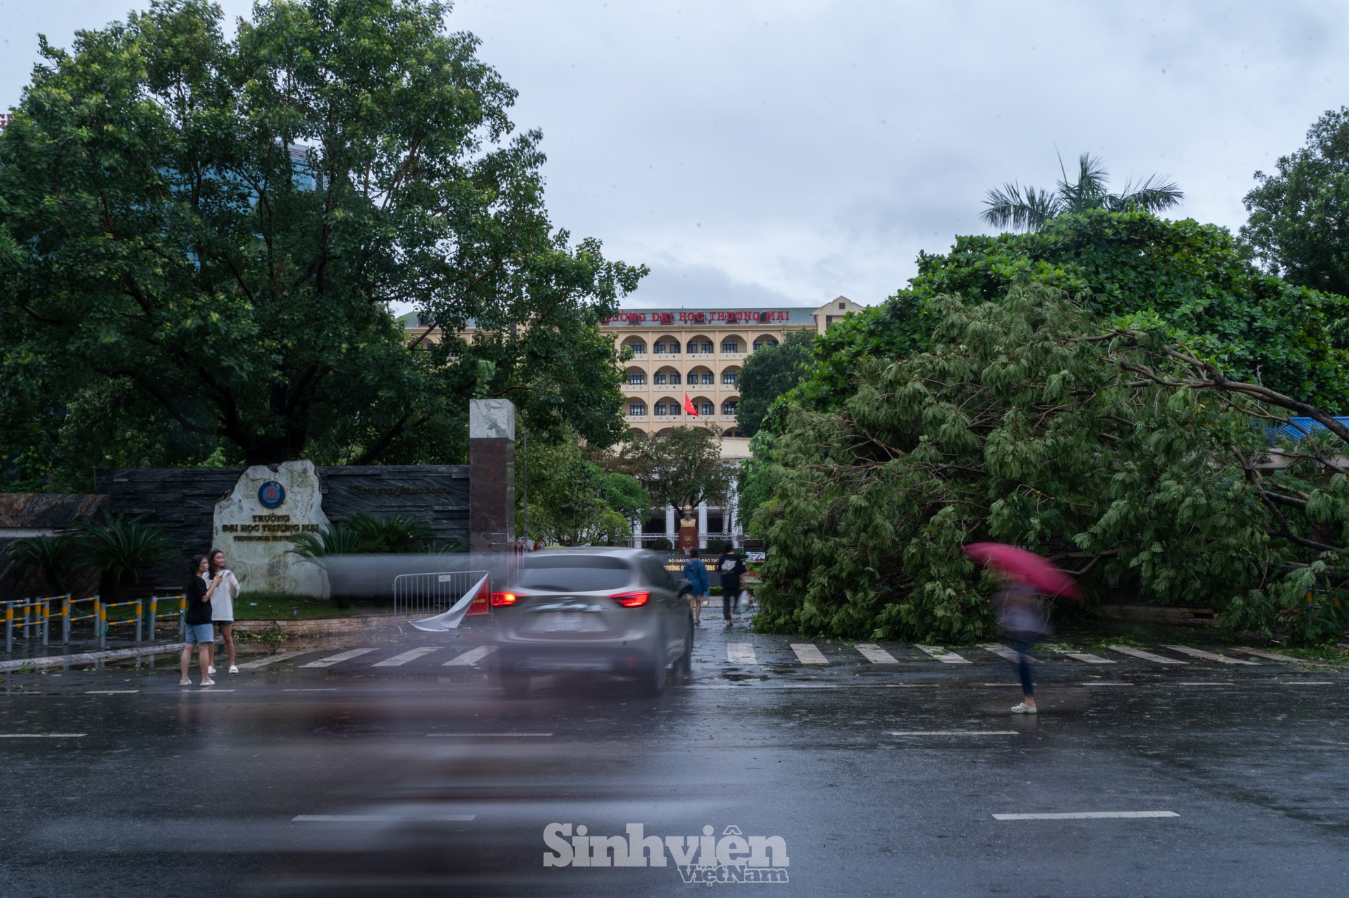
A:
[[[468,550],[515,542],[515,403],[468,402]]]

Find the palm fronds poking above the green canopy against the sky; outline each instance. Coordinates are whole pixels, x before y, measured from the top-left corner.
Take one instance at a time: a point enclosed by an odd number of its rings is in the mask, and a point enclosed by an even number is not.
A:
[[[1063,179],[1058,182],[1058,190],[1021,187],[1014,182],[989,190],[981,217],[994,228],[1039,231],[1052,218],[1074,212],[1161,212],[1184,200],[1180,186],[1160,175],[1151,175],[1139,185],[1125,182],[1124,190],[1110,193],[1106,187],[1110,173],[1090,152],[1078,156],[1075,182],[1068,183],[1063,156],[1059,156],[1059,171],[1063,173]]]

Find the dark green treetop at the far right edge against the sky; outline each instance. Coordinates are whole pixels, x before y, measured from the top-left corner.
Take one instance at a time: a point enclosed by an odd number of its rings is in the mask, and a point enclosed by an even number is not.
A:
[[[1349,216],[1349,107],[1321,116],[1307,146],[1276,167],[1256,173],[1242,243],[1290,283],[1349,295],[1349,236],[1341,225]]]

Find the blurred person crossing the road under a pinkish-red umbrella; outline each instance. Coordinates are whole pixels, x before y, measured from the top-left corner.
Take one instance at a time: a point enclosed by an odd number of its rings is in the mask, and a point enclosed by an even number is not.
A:
[[[1016,669],[1021,676],[1021,704],[1014,715],[1035,715],[1035,681],[1031,678],[1031,646],[1050,635],[1050,613],[1041,596],[1078,596],[1078,584],[1048,558],[997,542],[974,542],[965,554],[992,569],[1002,588],[993,595],[998,627],[1016,649]]]

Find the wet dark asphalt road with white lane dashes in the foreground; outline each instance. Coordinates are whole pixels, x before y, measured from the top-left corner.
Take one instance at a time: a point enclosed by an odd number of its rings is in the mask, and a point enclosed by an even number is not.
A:
[[[1041,715],[1014,717],[989,653],[888,646],[881,665],[815,643],[828,663],[803,665],[791,639],[704,627],[692,682],[657,698],[561,677],[507,701],[444,663],[480,642],[305,667],[339,653],[314,650],[214,689],[179,689],[163,658],[7,676],[0,894],[688,894],[708,886],[673,855],[704,827],[708,858],[741,847],[731,827],[781,840],[761,854],[788,882],[711,886],[733,894],[1349,890],[1340,671],[1047,658]],[[728,662],[728,642],[759,663]],[[1174,816],[994,817],[1083,812]],[[571,828],[545,844],[549,824]],[[544,863],[587,854],[563,832],[629,824],[666,866]]]

